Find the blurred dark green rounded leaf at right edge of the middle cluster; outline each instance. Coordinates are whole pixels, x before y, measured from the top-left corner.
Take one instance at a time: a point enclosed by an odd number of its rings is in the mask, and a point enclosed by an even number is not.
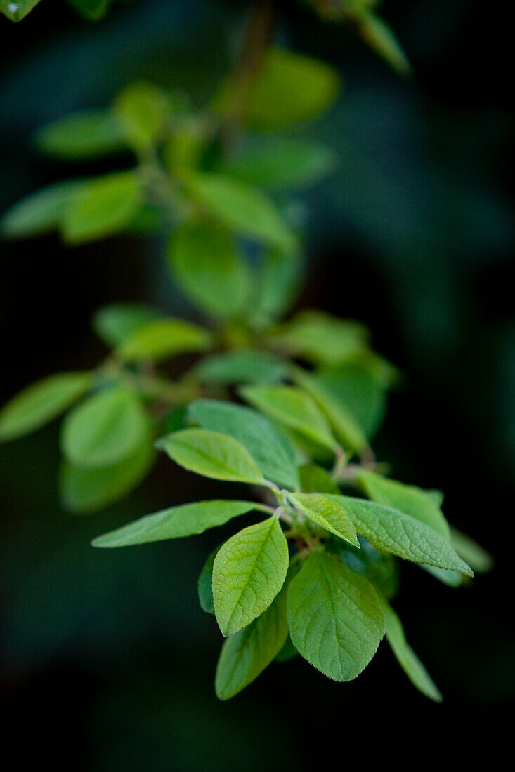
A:
[[[387,407],[386,388],[363,364],[347,362],[318,371],[315,380],[349,411],[370,440]]]

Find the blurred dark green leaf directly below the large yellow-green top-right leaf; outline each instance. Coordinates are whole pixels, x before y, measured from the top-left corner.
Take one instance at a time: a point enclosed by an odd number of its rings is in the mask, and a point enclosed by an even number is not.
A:
[[[327,147],[275,137],[223,161],[217,171],[257,187],[298,189],[326,177],[335,161]]]

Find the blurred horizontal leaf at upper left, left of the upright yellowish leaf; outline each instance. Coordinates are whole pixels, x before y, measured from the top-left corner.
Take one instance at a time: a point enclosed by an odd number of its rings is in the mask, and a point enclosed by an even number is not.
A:
[[[42,153],[63,161],[82,161],[124,150],[123,135],[106,110],[83,110],[53,120],[34,135]]]

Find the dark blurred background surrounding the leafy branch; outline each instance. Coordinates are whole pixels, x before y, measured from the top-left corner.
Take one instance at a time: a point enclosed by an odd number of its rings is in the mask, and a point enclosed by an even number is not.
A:
[[[46,121],[104,105],[142,74],[201,104],[228,66],[241,5],[140,0],[87,25],[43,0],[19,25],[0,19],[2,208],[50,181],[103,171],[38,157],[30,134]],[[411,688],[385,645],[354,682],[329,682],[297,658],[219,703],[221,639],[198,607],[196,577],[220,532],[112,552],[89,540],[220,487],[160,462],[128,501],[73,517],[56,496],[56,426],[3,445],[0,679],[18,767],[307,769],[333,753],[335,766],[351,753],[359,764],[450,766],[501,750],[513,697],[512,31],[502,6],[483,0],[389,0],[384,16],[415,71],[404,81],[345,29],[280,5],[279,42],[329,60],[346,80],[329,117],[296,132],[340,157],[305,197],[301,305],[360,318],[404,371],[378,455],[398,479],[443,489],[449,520],[496,568],[452,590],[403,567],[395,605],[442,706]],[[181,312],[161,252],[159,239],[2,244],[2,401],[45,374],[93,366],[104,349],[89,318],[103,303]]]

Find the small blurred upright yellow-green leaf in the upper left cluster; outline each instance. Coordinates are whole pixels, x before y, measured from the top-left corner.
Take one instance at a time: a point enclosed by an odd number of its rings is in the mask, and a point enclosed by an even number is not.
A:
[[[136,151],[145,150],[159,140],[170,110],[169,94],[144,80],[127,86],[113,105],[122,133]]]

